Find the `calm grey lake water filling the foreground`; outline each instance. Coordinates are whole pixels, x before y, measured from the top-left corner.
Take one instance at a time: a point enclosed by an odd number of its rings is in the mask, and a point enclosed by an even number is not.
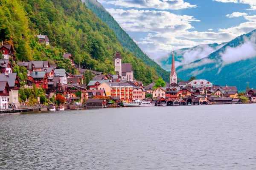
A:
[[[0,115],[1,170],[255,170],[256,105]]]

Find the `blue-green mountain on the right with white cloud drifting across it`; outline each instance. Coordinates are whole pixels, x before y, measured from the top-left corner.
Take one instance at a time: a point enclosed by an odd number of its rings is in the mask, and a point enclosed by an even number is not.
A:
[[[239,91],[245,91],[247,85],[255,88],[256,30],[218,48],[207,57],[178,66],[177,75],[184,80],[195,76],[215,85],[235,85]]]

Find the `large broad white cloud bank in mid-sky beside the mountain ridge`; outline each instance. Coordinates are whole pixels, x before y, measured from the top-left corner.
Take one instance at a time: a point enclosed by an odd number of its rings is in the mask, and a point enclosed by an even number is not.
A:
[[[193,28],[191,22],[199,22],[193,16],[176,15],[167,11],[107,9],[119,25],[128,31],[180,32]]]

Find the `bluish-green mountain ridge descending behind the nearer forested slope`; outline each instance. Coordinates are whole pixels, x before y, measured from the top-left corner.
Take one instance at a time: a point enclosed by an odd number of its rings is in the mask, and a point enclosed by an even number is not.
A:
[[[103,22],[105,22],[116,33],[117,40],[123,45],[123,47],[132,53],[139,59],[142,59],[146,65],[149,65],[156,69],[157,75],[162,77],[166,82],[169,82],[170,74],[161,68],[154,60],[150,59],[134,42],[131,37],[119,26],[116,20],[105,10],[105,8],[97,0],[82,0],[85,5],[96,14]]]

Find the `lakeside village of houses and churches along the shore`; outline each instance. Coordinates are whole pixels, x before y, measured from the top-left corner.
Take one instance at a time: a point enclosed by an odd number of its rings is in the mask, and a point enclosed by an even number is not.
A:
[[[37,35],[40,43],[49,45],[46,35]],[[71,64],[79,74],[71,74],[65,69],[58,69],[58,65],[49,61],[18,61],[15,49],[10,44],[0,46],[3,59],[0,59],[0,110],[14,111],[15,109],[37,106],[52,108],[108,108],[119,107],[123,103],[135,100],[150,101],[155,106],[175,105],[210,105],[210,104],[239,104],[242,98],[250,103],[256,102],[256,90],[247,89],[239,95],[235,86],[213,85],[206,79],[193,79],[177,82],[175,70],[175,56],[172,55],[170,82],[158,85],[134,79],[131,63],[122,63],[119,51],[114,57],[116,74],[103,74],[89,68],[80,68],[74,63],[72,54],[63,54],[63,59],[70,59]],[[26,69],[27,79],[21,79],[13,69],[15,65]],[[85,83],[84,72],[90,72],[92,79]],[[162,87],[163,86],[163,87]],[[46,100],[23,99],[21,89],[37,88],[44,93]],[[30,99],[31,100],[31,99]],[[58,101],[57,101],[58,100]]]

